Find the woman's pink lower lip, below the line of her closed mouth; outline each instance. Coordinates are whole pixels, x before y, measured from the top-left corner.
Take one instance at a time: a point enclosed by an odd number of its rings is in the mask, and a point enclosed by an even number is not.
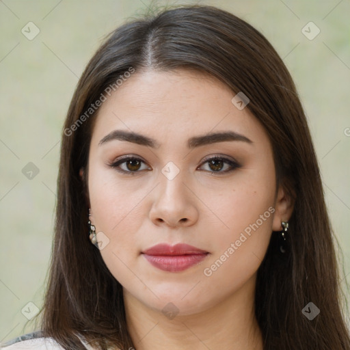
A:
[[[147,255],[142,254],[154,266],[163,271],[178,272],[189,269],[206,258],[206,254]]]

